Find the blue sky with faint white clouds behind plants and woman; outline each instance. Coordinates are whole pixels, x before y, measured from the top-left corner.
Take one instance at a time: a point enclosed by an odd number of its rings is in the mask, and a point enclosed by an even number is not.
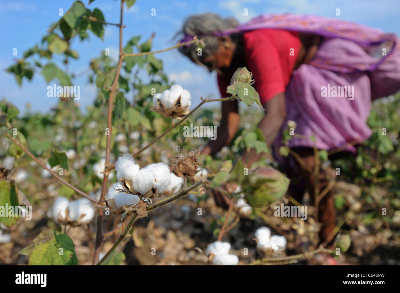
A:
[[[66,12],[72,3],[72,0],[0,1],[0,98],[7,98],[20,110],[30,103],[34,111],[48,111],[57,102],[56,98],[46,96],[48,85],[40,74],[35,75],[31,82],[24,79],[22,87],[18,87],[14,77],[4,69],[26,49],[39,43],[50,24],[60,18],[59,9],[63,8]],[[95,0],[88,5],[88,0],[84,0],[83,3],[91,10],[102,10],[107,22],[119,22],[119,1]],[[156,16],[151,16],[152,8],[156,9]],[[243,16],[244,8],[248,9],[248,16]],[[137,0],[134,6],[124,12],[126,28],[123,43],[135,35],[142,35],[145,40],[155,32],[152,50],[175,45],[172,37],[182,26],[183,20],[191,14],[216,12],[246,22],[259,14],[284,12],[336,18],[336,8],[340,8],[341,19],[400,35],[398,0]],[[104,41],[91,33],[90,41],[74,41],[72,48],[79,52],[80,59],[70,64],[70,71],[79,73],[86,69],[90,58],[97,57],[100,51],[104,52],[104,48],[110,48],[111,55],[117,56],[117,47],[118,28],[114,26],[106,27]],[[12,55],[13,48],[18,49],[18,56]],[[177,50],[160,53],[157,57],[163,60],[164,71],[170,79],[190,90],[192,105],[198,104],[200,96],[218,96],[215,73],[210,74],[206,69],[192,64]],[[75,85],[81,86],[78,102],[82,108],[92,104],[96,94],[96,89],[86,81],[86,77],[75,79]]]

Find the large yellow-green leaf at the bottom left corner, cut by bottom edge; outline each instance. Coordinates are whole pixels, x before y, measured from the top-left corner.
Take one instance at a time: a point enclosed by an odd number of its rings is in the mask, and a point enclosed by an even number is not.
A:
[[[59,234],[35,244],[29,265],[78,265],[74,243],[66,234]]]

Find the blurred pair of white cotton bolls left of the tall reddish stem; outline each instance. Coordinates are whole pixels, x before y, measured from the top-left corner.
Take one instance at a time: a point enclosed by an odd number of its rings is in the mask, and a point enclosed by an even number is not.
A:
[[[95,214],[96,210],[88,199],[81,198],[70,202],[66,197],[58,197],[48,212],[48,216],[56,222],[71,226],[88,224]]]

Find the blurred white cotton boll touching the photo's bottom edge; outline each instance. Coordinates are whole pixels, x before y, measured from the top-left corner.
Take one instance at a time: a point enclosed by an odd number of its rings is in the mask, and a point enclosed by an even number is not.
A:
[[[230,248],[229,242],[216,241],[208,245],[206,256],[213,265],[237,265],[239,258],[234,254],[229,254]]]

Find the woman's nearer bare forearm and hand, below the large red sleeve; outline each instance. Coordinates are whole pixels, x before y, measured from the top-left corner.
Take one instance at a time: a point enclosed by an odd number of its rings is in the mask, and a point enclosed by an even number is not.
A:
[[[276,94],[263,106],[266,110],[264,117],[258,124],[258,128],[260,128],[264,134],[267,146],[271,147],[286,118],[285,94],[283,92]],[[243,154],[242,159],[247,167],[250,167],[252,163],[258,161],[261,156],[262,153],[257,155],[256,151],[251,149],[250,152],[246,151]]]

